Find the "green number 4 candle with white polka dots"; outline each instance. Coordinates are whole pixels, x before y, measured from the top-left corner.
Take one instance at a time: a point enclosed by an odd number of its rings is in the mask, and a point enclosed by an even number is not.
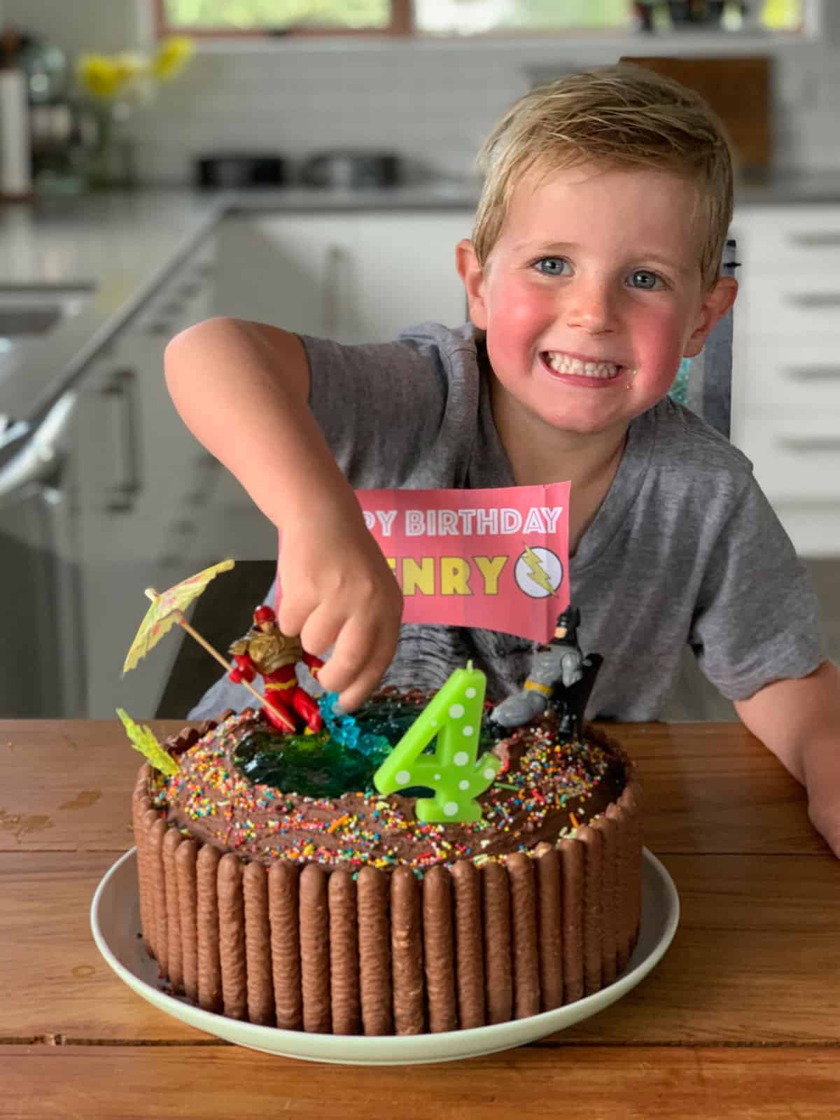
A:
[[[427,786],[435,796],[418,800],[419,820],[473,823],[482,819],[475,799],[493,782],[501,765],[492,753],[476,757],[486,683],[472,661],[466,669],[455,670],[373,775],[380,793]],[[435,738],[435,754],[423,754]]]

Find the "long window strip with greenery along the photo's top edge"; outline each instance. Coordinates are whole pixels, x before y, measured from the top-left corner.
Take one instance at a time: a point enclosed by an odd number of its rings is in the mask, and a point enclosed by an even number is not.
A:
[[[809,0],[155,0],[161,34],[470,36],[626,31],[637,20],[801,31]]]

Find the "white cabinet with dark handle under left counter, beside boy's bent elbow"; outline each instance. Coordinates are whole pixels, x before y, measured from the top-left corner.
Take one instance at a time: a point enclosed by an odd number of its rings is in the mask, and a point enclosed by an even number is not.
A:
[[[179,330],[215,311],[215,244],[208,239],[114,335],[80,380],[75,491],[78,505],[86,709],[109,717],[116,706],[153,716],[180,634],[167,635],[127,676],[122,663],[161,591],[261,532],[260,556],[276,549],[273,531],[235,483],[184,426],[164,379],[164,352]],[[242,511],[225,517],[218,489]],[[251,542],[253,545],[253,541]]]

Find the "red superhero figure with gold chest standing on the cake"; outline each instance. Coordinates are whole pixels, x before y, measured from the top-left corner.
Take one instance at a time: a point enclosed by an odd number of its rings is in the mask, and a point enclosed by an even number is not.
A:
[[[293,712],[297,712],[310,731],[321,729],[324,719],[318,704],[298,684],[295,666],[302,661],[317,678],[324,662],[307,653],[300,638],[283,634],[271,607],[254,610],[253,626],[244,637],[233,643],[228,652],[236,662],[236,668],[230,672],[234,683],[250,682],[256,673],[264,680],[268,701],[264,711],[274,727],[286,734],[296,731]]]

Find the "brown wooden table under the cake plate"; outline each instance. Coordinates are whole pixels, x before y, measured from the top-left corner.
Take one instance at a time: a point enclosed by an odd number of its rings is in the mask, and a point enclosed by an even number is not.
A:
[[[664,960],[529,1046],[365,1068],[228,1045],[127,988],[88,912],[132,844],[139,756],[115,720],[0,722],[0,1117],[837,1120],[840,862],[802,790],[739,725],[610,730],[680,894]]]

